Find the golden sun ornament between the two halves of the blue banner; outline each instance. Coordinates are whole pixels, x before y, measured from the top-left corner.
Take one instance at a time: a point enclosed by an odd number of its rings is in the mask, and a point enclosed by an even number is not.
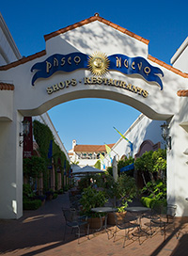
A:
[[[95,53],[92,56],[88,56],[88,68],[94,75],[102,76],[108,71],[110,60],[105,54]]]

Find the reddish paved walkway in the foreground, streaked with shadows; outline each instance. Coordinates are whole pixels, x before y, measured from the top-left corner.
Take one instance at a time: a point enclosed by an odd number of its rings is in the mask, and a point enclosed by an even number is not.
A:
[[[69,207],[68,193],[58,196],[56,200],[46,201],[36,211],[24,211],[18,220],[0,220],[0,254],[15,256],[187,256],[188,255],[188,224],[178,223],[179,239],[175,232],[167,233],[163,242],[160,232],[152,238],[142,237],[138,241],[115,243],[112,236],[108,240],[105,232],[90,234],[80,238],[80,244],[74,234],[67,235],[63,241],[64,218],[61,208]],[[120,232],[118,232],[120,234]]]

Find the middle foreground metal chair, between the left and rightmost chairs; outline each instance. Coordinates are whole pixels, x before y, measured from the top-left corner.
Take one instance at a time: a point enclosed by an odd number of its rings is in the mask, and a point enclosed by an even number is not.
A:
[[[116,229],[114,232],[114,242],[116,241],[117,237],[117,232],[119,230],[125,230],[125,235],[124,235],[124,241],[123,241],[123,248],[125,247],[125,241],[126,238],[128,240],[131,239],[130,233],[132,232],[134,228],[137,228],[138,230],[138,240],[140,244],[140,225],[137,223],[137,217],[136,216],[125,216],[124,218],[119,217],[118,213],[114,213],[115,216],[115,223],[116,223]]]

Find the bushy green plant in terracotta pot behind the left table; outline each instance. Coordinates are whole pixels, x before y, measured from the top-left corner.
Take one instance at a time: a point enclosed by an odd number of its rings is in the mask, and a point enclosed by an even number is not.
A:
[[[82,198],[80,199],[80,203],[82,205],[81,215],[88,216],[89,226],[91,229],[99,229],[101,227],[100,215],[92,212],[91,208],[102,207],[106,201],[107,199],[104,191],[97,191],[91,186],[84,189]]]

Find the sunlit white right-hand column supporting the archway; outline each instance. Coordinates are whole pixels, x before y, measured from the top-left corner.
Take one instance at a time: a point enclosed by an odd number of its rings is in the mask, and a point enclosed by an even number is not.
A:
[[[179,116],[170,122],[172,149],[167,152],[167,201],[177,205],[177,216],[188,216],[188,165],[183,154],[188,148],[188,133],[180,126]]]

